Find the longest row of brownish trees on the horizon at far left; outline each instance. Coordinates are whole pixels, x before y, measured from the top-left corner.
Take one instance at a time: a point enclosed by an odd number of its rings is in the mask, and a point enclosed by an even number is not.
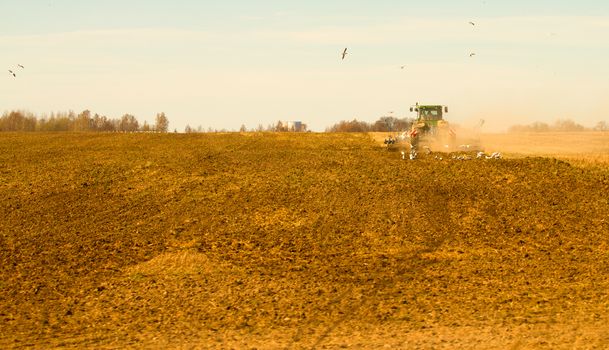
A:
[[[131,114],[120,118],[108,118],[84,110],[78,114],[73,111],[51,113],[49,116],[36,116],[25,111],[4,112],[0,116],[1,131],[96,131],[96,132],[167,132],[169,119],[165,113],[157,113],[155,123],[140,122]]]

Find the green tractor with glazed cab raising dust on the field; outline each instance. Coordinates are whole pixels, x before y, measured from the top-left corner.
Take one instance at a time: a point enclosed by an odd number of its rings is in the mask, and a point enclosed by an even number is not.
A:
[[[419,143],[423,143],[428,152],[430,147],[442,147],[448,151],[455,147],[456,135],[454,130],[444,120],[448,107],[442,105],[419,105],[410,107],[411,112],[417,113],[408,136],[410,137],[410,159],[417,157]]]

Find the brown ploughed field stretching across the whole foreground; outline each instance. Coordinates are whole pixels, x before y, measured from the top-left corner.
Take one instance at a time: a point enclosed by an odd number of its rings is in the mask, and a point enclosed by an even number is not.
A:
[[[0,348],[608,348],[608,137],[488,137],[0,134]]]

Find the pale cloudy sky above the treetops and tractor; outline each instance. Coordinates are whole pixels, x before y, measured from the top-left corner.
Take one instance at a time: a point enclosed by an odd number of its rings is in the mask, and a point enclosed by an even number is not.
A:
[[[0,0],[0,13],[0,112],[165,112],[178,131],[323,131],[416,102],[488,131],[609,121],[606,0]]]

